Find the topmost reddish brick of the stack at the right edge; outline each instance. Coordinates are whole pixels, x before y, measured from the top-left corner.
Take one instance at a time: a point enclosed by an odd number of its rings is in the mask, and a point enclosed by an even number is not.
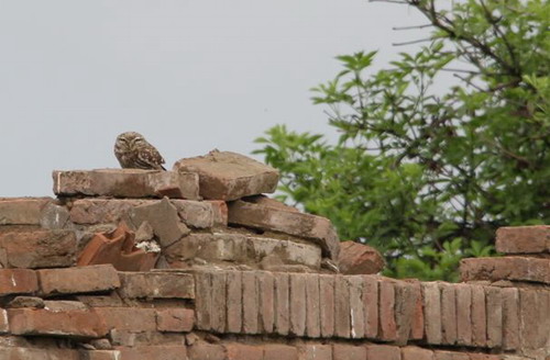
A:
[[[550,226],[501,227],[496,230],[496,250],[504,254],[550,252]]]

